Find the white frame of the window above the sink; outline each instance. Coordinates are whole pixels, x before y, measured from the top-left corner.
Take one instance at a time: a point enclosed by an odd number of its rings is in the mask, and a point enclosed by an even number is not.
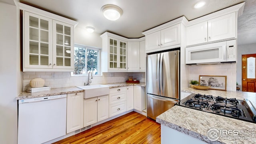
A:
[[[86,71],[87,71],[87,50],[90,49],[90,50],[97,50],[98,51],[98,74],[93,74],[93,76],[102,76],[102,73],[101,73],[101,69],[100,69],[100,54],[101,54],[101,49],[100,48],[97,48],[97,47],[94,47],[94,46],[86,46],[86,45],[82,45],[82,44],[74,44],[74,48],[75,47],[79,47],[79,48],[85,48],[85,68],[86,68]],[[75,49],[74,49],[75,51]],[[74,58],[75,60],[75,58]],[[73,71],[74,72],[74,71]],[[71,76],[88,76],[88,73],[85,73],[85,74],[73,74],[73,72],[71,72]]]

